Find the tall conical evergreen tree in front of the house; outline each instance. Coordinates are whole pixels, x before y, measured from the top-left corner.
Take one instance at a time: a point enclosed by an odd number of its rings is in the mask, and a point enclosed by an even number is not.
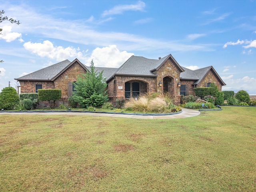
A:
[[[74,100],[81,107],[101,106],[108,100],[106,78],[102,77],[102,72],[95,70],[94,62],[91,61],[90,72],[78,75],[77,81],[74,82]]]

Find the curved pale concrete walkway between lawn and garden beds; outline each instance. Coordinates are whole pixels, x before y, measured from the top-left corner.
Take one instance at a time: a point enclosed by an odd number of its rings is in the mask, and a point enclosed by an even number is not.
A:
[[[200,112],[192,109],[182,108],[182,112],[173,115],[134,115],[134,114],[109,114],[94,112],[0,112],[0,115],[87,115],[87,116],[105,116],[105,117],[123,117],[136,119],[177,119],[187,118],[199,115]]]

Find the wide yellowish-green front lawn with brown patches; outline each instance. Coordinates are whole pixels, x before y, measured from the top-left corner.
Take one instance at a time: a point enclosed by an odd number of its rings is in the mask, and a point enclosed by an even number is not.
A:
[[[152,120],[0,114],[1,192],[256,191],[256,108]]]

